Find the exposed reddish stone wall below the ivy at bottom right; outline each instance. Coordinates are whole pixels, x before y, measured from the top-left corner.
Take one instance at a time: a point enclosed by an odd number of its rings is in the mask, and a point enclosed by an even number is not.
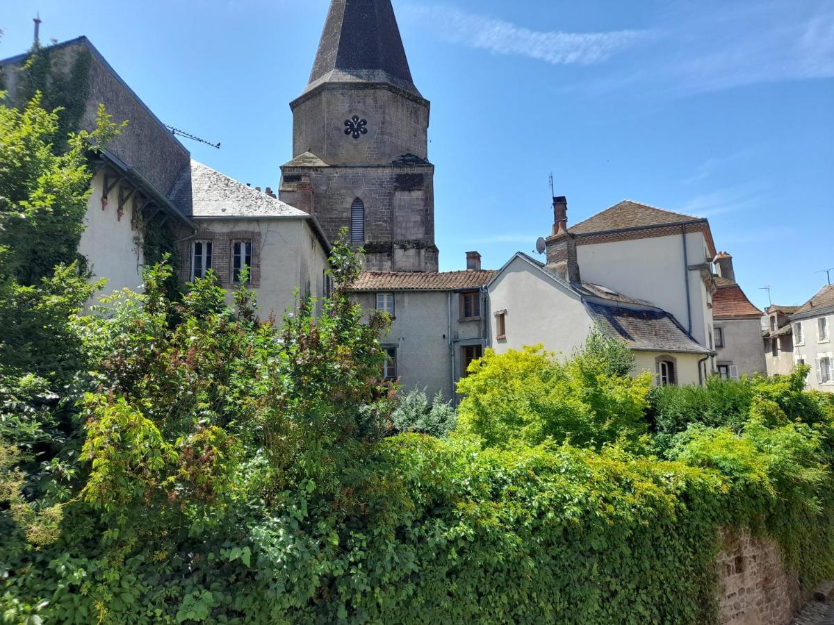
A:
[[[796,575],[782,563],[776,542],[744,530],[721,532],[718,574],[721,625],[786,625],[802,603]]]

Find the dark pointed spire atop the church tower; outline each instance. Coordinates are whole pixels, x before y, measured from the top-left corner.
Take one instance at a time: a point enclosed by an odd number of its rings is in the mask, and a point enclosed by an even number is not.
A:
[[[330,2],[304,92],[324,82],[382,82],[422,97],[411,79],[391,0]]]

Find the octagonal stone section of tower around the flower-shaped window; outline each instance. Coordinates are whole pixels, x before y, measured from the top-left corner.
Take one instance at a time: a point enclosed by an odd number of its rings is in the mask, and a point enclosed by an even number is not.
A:
[[[404,154],[428,157],[429,107],[376,85],[334,84],[294,103],[293,156],[312,152],[330,165],[388,164]],[[364,134],[345,134],[359,117]]]

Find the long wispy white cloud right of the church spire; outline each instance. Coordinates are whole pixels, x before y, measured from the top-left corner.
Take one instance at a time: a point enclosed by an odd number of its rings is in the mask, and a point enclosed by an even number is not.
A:
[[[540,59],[554,65],[591,65],[630,47],[645,32],[535,31],[498,18],[445,5],[404,7],[403,18],[435,30],[445,41]]]

